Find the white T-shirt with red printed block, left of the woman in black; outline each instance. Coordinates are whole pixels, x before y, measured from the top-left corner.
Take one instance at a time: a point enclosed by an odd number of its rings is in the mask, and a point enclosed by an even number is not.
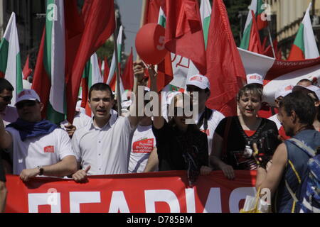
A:
[[[129,172],[144,172],[151,151],[156,148],[156,138],[150,126],[138,126],[132,138]]]

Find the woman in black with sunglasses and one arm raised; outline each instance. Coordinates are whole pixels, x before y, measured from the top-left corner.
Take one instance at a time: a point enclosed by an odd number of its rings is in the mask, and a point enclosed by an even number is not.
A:
[[[149,68],[151,91],[156,92],[156,73]],[[159,112],[154,113],[153,132],[159,158],[159,171],[188,170],[189,184],[196,181],[202,166],[208,166],[208,140],[186,111],[191,111],[190,96],[179,93],[169,105],[169,122]],[[170,116],[171,115],[171,116]],[[190,124],[190,122],[193,122]]]

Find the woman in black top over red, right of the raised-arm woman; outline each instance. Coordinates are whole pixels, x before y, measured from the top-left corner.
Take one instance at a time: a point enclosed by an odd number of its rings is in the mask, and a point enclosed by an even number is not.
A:
[[[262,89],[247,84],[237,96],[239,116],[220,121],[213,135],[210,165],[222,170],[228,179],[235,178],[234,170],[257,170],[252,144],[257,143],[260,155],[272,156],[279,145],[278,130],[273,121],[257,117],[262,104]]]

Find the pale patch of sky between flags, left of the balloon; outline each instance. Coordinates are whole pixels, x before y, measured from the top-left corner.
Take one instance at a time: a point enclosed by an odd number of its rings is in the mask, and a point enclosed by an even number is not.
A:
[[[117,0],[120,9],[122,26],[127,39],[124,41],[124,52],[130,53],[130,48],[133,48],[134,59],[137,53],[134,47],[137,32],[140,27],[140,17],[142,10],[142,0]]]

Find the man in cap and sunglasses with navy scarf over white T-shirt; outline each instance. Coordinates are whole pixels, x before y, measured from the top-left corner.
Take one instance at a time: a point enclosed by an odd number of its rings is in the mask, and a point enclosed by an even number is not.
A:
[[[41,121],[38,94],[23,89],[16,99],[18,120],[4,128],[0,119],[0,148],[12,148],[14,175],[23,181],[46,175],[64,177],[77,170],[68,133],[50,121]]]

